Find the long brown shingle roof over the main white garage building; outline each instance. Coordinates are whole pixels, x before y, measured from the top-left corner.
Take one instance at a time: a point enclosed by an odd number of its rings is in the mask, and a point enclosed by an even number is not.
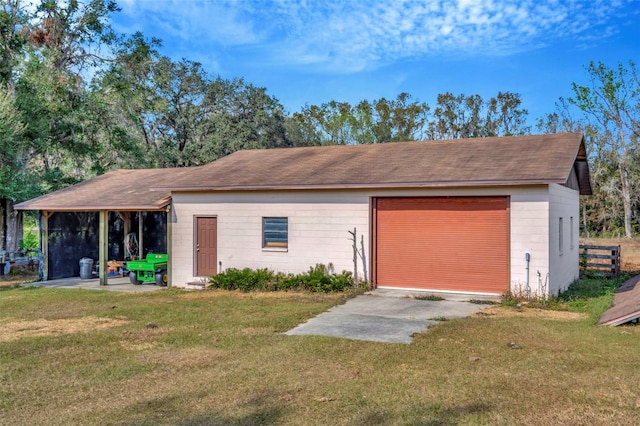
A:
[[[163,189],[564,184],[574,168],[591,193],[581,133],[238,151]]]

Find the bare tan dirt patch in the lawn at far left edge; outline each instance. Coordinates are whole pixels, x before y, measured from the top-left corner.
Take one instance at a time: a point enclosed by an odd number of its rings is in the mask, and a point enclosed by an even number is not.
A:
[[[12,342],[27,337],[55,336],[104,330],[129,324],[124,318],[84,317],[58,320],[30,321],[6,319],[0,329],[0,342]]]

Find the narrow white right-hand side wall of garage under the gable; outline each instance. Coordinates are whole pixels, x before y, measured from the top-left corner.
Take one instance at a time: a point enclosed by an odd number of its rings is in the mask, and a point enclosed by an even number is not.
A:
[[[549,186],[549,294],[552,295],[566,290],[580,273],[579,203],[577,191],[562,185]],[[562,218],[563,228],[562,252],[560,251],[560,218]]]

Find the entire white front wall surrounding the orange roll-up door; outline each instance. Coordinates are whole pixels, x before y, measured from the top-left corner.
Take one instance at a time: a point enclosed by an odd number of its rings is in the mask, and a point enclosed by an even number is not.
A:
[[[457,188],[428,190],[345,190],[194,193],[173,196],[172,284],[182,287],[194,277],[194,217],[217,216],[218,260],[226,268],[270,268],[302,272],[316,263],[332,262],[337,271],[353,269],[348,231],[364,235],[369,253],[370,197],[389,196],[510,196],[511,287],[524,290],[525,252],[531,253],[530,285],[536,291],[536,271],[549,271],[548,187]],[[262,217],[289,218],[286,252],[262,248]],[[577,215],[576,215],[577,217]],[[360,237],[358,237],[360,238]],[[482,256],[482,253],[478,253]],[[358,264],[362,273],[362,264]]]

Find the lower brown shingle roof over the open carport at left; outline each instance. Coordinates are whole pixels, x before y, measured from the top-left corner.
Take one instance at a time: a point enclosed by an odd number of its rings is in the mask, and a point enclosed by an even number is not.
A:
[[[116,170],[51,194],[17,204],[17,210],[45,211],[137,211],[161,210],[171,202],[169,190],[152,191],[169,185],[192,169]]]

